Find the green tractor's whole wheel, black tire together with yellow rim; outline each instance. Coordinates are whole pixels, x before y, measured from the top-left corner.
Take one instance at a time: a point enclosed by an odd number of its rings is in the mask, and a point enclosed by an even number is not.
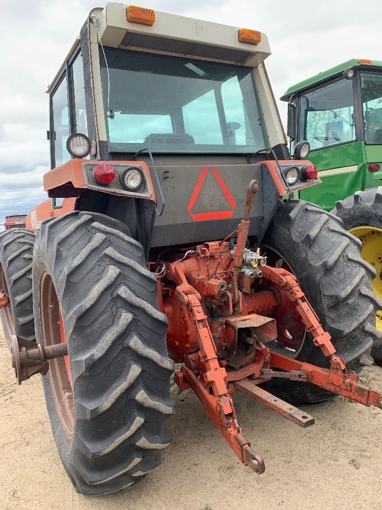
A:
[[[339,200],[332,213],[341,218],[347,231],[363,241],[361,257],[376,270],[377,274],[372,287],[374,294],[382,299],[382,187],[357,191],[354,195]],[[375,363],[382,366],[382,311],[380,310],[376,315],[376,325],[379,337],[373,343],[371,355]]]

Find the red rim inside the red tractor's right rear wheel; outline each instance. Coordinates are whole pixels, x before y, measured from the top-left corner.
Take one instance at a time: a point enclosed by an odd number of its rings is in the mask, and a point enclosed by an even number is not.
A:
[[[289,271],[291,274],[294,274],[294,271],[291,269],[288,262],[285,260],[285,258],[277,251],[275,248],[271,248],[268,245],[262,245],[261,249],[264,250],[264,253],[266,251],[266,257],[267,257],[267,264],[272,267],[282,268],[286,271]],[[298,280],[297,280],[298,282]],[[282,292],[283,289],[279,286],[272,286],[279,294],[280,291]],[[284,293],[285,294],[285,293]],[[288,305],[290,305],[288,307]],[[280,327],[281,319],[276,319],[276,323],[278,325],[278,331],[282,331],[283,336],[283,347],[280,347],[279,341],[275,342],[269,342],[269,347],[271,350],[275,352],[280,352],[286,356],[289,356],[289,358],[297,358],[298,354],[301,352],[301,349],[303,348],[305,338],[306,338],[306,326],[301,318],[299,316],[298,312],[296,312],[295,308],[293,307],[293,303],[284,295],[281,307],[283,308],[283,313],[286,315],[288,313],[291,313],[293,316],[289,317],[287,319],[287,324],[283,324]],[[288,310],[286,310],[286,307]],[[292,310],[293,309],[293,310]],[[293,324],[293,325],[291,325]],[[284,327],[287,326],[287,327]],[[289,340],[288,337],[291,337]],[[278,339],[280,340],[280,339]]]

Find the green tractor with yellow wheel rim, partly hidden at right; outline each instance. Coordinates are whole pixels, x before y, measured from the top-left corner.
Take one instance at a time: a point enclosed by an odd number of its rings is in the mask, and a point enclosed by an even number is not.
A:
[[[344,222],[362,243],[382,298],[382,62],[353,59],[297,83],[288,104],[290,149],[307,141],[321,186],[298,191]],[[382,311],[376,314],[382,336]],[[381,365],[382,349],[373,352]]]

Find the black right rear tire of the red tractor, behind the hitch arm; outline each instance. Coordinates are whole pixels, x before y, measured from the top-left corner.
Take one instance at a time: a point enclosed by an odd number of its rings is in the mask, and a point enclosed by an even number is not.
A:
[[[289,265],[348,369],[359,373],[370,365],[370,349],[378,336],[375,312],[380,307],[371,290],[375,271],[360,257],[361,242],[343,229],[342,221],[313,203],[290,200],[279,206],[261,245],[265,251],[276,250]],[[329,367],[310,334],[297,359]],[[295,405],[333,397],[316,386],[287,379],[271,379],[264,387]]]

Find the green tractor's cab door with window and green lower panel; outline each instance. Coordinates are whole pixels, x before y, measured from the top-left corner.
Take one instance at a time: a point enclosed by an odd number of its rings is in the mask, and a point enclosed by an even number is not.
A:
[[[307,140],[308,159],[322,180],[300,192],[300,198],[326,211],[335,202],[363,189],[365,144],[357,141],[353,82],[344,78],[300,96],[298,139]]]

